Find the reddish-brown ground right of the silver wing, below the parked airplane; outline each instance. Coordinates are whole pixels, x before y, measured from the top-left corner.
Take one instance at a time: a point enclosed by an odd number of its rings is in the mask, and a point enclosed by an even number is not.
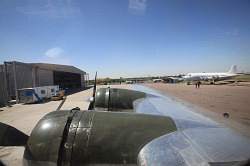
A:
[[[144,85],[250,137],[249,86],[201,85],[198,89],[183,83]]]

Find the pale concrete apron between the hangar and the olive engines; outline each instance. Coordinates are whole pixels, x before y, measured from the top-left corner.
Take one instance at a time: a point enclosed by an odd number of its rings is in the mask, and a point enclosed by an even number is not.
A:
[[[105,85],[98,88],[107,87]],[[130,85],[112,85],[111,87],[130,88]],[[79,107],[87,110],[93,88],[68,95],[60,110],[70,110]],[[17,128],[30,135],[37,122],[47,113],[55,111],[60,101],[48,101],[37,104],[14,104],[11,107],[0,108],[0,122]],[[24,147],[0,147],[0,160],[6,166],[22,166]]]

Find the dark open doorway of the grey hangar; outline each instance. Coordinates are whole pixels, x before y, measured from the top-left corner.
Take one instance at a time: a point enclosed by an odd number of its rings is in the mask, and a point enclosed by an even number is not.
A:
[[[61,89],[74,90],[81,88],[81,75],[76,73],[54,71],[54,85]]]

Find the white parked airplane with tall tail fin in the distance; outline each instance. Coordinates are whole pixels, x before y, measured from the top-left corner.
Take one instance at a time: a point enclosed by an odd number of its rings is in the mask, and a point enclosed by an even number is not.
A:
[[[220,81],[233,78],[237,76],[237,66],[232,65],[228,72],[224,73],[188,73],[183,76],[186,81]]]

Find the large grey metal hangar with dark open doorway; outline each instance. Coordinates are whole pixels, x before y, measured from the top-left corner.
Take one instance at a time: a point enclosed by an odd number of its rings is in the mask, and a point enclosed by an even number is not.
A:
[[[70,65],[12,61],[0,65],[0,79],[0,105],[5,105],[22,88],[59,85],[60,89],[84,89],[88,74]]]

